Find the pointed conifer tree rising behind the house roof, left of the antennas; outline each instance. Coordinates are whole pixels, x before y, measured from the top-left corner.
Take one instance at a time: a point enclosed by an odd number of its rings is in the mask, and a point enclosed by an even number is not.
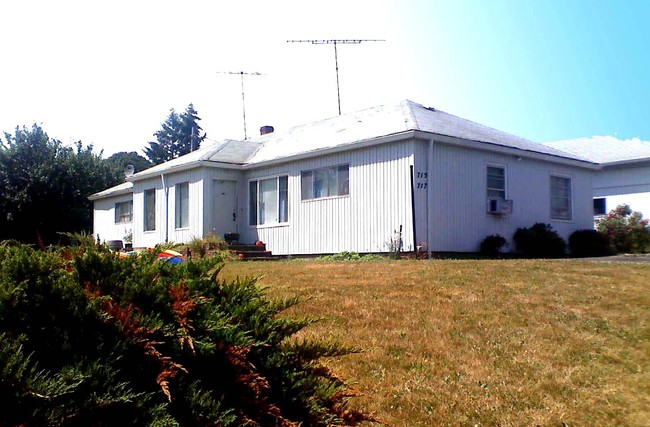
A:
[[[150,141],[149,147],[144,149],[147,158],[158,165],[199,148],[205,139],[200,120],[192,104],[181,114],[172,108],[162,128],[154,133],[156,141]]]

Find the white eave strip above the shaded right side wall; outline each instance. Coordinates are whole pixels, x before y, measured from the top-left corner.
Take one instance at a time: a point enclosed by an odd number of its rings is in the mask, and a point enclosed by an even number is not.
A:
[[[500,154],[508,154],[517,157],[525,157],[535,160],[551,161],[570,166],[577,166],[583,169],[600,170],[602,167],[598,163],[590,162],[587,160],[573,159],[570,157],[556,156],[553,154],[542,153],[539,151],[525,150],[522,148],[508,147],[505,145],[496,144],[493,142],[475,141],[463,138],[452,137],[432,132],[415,131],[415,137],[418,139],[433,139],[437,142],[451,144],[454,146],[473,148],[476,150],[490,151]]]

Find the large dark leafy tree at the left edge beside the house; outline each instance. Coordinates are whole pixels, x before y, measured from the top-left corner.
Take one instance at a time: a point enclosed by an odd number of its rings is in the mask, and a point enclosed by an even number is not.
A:
[[[51,244],[59,232],[90,231],[88,196],[122,180],[92,145],[64,147],[36,124],[17,127],[0,140],[0,240]]]

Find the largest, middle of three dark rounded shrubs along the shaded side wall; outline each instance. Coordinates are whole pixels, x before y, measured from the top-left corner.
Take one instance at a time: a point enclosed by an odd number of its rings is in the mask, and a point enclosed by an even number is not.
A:
[[[557,231],[541,222],[530,228],[518,228],[513,240],[517,251],[530,258],[561,258],[566,248]]]

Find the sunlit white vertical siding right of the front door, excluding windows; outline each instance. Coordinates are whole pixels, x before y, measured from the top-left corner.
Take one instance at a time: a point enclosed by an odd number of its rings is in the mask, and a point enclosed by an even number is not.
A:
[[[240,183],[242,240],[262,240],[274,254],[320,254],[341,251],[386,252],[394,231],[402,226],[404,250],[413,250],[410,141],[250,171]],[[349,196],[301,200],[300,173],[350,165]],[[289,176],[289,222],[248,225],[248,181]]]

